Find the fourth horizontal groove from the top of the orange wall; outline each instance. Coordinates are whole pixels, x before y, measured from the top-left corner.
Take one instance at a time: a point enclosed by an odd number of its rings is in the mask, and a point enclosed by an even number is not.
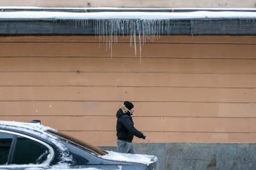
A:
[[[136,87],[136,88],[202,88],[202,89],[255,89],[255,87],[207,87],[207,86],[98,86],[98,85],[0,85],[0,87]]]

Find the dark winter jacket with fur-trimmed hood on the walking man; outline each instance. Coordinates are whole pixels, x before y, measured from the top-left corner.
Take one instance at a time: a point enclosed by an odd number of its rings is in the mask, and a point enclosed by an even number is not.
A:
[[[145,139],[146,136],[134,128],[130,112],[124,105],[117,111],[117,139],[132,142],[133,136]]]

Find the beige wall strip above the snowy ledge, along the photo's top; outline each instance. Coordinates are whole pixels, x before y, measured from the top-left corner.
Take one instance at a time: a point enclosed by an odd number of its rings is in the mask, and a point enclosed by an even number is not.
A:
[[[153,0],[1,0],[0,6],[38,6],[38,7],[152,7],[152,8],[194,8],[194,7],[236,7],[254,8],[254,0],[191,0],[191,1],[153,1]]]

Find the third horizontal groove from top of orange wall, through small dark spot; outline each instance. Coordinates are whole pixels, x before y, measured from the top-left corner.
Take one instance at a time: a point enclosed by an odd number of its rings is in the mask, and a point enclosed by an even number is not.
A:
[[[256,74],[256,72],[154,72],[154,71],[148,71],[148,72],[138,72],[138,71],[0,71],[0,73],[101,73],[101,74],[109,74],[109,73],[132,73],[132,74],[215,74],[215,75],[251,75]]]

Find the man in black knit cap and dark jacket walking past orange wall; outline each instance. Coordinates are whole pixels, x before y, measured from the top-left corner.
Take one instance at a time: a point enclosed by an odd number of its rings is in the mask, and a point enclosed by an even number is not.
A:
[[[134,127],[132,114],[134,112],[132,102],[125,101],[121,104],[117,111],[117,150],[119,153],[132,153],[135,154],[135,149],[132,144],[133,136],[149,139],[143,135],[142,132]]]

